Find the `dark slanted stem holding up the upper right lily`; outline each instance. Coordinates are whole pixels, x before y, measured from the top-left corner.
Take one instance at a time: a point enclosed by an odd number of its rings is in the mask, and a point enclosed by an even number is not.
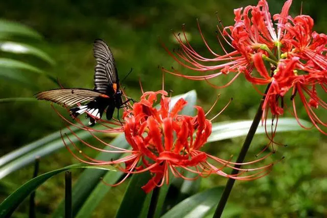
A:
[[[248,151],[248,149],[250,147],[253,136],[254,136],[254,134],[256,132],[256,129],[258,128],[258,125],[259,125],[261,117],[262,117],[262,103],[265,100],[265,97],[266,97],[266,94],[267,94],[269,88],[270,88],[270,83],[268,84],[268,86],[266,88],[265,94],[262,97],[260,105],[258,107],[258,111],[256,111],[256,114],[255,114],[254,119],[252,121],[251,127],[249,129],[249,132],[246,135],[245,141],[244,141],[243,146],[241,148],[241,152],[240,152],[239,157],[237,158],[237,161],[236,161],[237,163],[243,163],[244,158],[246,156],[246,153],[247,153],[247,151]],[[239,170],[237,168],[241,168],[241,165],[236,164],[235,168],[233,168],[233,170],[231,171],[231,175],[236,175],[237,173],[239,173]],[[235,179],[231,179],[231,178],[228,179],[213,218],[221,217],[221,214],[223,213],[224,207],[225,207],[225,205],[227,203],[229,194],[231,192],[231,189],[232,189],[234,183],[235,183]]]

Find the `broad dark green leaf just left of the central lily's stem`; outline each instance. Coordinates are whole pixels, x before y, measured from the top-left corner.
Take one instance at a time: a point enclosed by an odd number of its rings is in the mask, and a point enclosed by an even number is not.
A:
[[[123,201],[118,209],[116,218],[138,217],[142,212],[147,194],[141,188],[151,179],[149,172],[134,174],[128,183]]]

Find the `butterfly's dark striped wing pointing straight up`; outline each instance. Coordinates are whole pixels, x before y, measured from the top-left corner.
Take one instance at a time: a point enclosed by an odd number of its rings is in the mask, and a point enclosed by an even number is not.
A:
[[[113,55],[102,39],[94,42],[94,57],[96,59],[94,90],[113,96],[119,90],[119,78]]]

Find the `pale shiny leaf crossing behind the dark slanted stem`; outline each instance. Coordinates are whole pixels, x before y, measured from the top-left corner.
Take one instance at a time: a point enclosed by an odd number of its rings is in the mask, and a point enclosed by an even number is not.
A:
[[[305,120],[299,120],[303,125],[310,126],[310,123]],[[213,132],[208,138],[208,142],[215,142],[224,139],[231,139],[240,136],[246,136],[248,130],[251,126],[252,121],[243,120],[243,121],[231,121],[231,122],[221,122],[213,123]],[[276,122],[274,122],[274,125]],[[271,125],[271,120],[267,120],[267,130],[269,131]],[[276,132],[287,132],[287,131],[298,131],[305,130],[302,128],[295,118],[279,118]],[[255,134],[264,134],[265,126],[258,126]]]

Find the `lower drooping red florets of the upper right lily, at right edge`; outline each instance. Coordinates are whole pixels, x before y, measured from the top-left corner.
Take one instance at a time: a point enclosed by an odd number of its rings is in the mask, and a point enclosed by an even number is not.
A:
[[[308,69],[305,64],[300,62],[299,57],[293,56],[286,59],[281,59],[278,62],[277,69],[274,71],[273,76],[270,77],[267,69],[264,66],[264,61],[261,57],[262,54],[257,53],[253,56],[255,68],[258,70],[261,78],[252,77],[248,72],[245,73],[248,81],[253,84],[268,84],[271,83],[270,88],[265,96],[263,102],[263,119],[267,118],[268,108],[270,108],[271,114],[273,116],[284,114],[284,97],[289,90],[292,89],[291,101],[293,104],[293,114],[297,119],[298,123],[304,127],[299,122],[299,118],[296,113],[295,108],[295,95],[298,93],[305,109],[309,115],[310,120],[313,125],[323,134],[326,133],[319,127],[320,125],[327,126],[327,124],[318,118],[313,108],[318,108],[321,106],[327,109],[327,103],[318,97],[316,92],[316,86],[319,85],[323,92],[327,92],[326,82],[327,73],[326,71],[309,72],[302,75],[298,75],[298,71],[303,71]],[[307,71],[308,72],[308,71]],[[309,97],[306,97],[306,95]],[[280,103],[279,103],[280,101]]]

